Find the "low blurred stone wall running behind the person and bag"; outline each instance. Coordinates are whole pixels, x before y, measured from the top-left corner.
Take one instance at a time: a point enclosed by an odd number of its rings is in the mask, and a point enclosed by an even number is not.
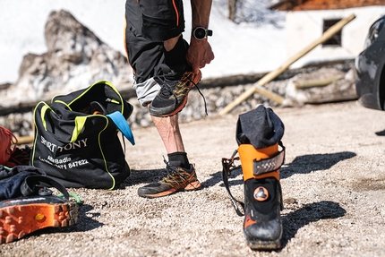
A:
[[[295,83],[299,82],[325,81],[328,78],[336,77],[338,77],[338,81],[332,81],[324,86],[304,89],[296,89],[293,86]],[[244,80],[247,81],[247,78]],[[180,121],[190,122],[192,120],[217,116],[224,107],[227,107],[228,104],[233,102],[233,100],[245,90],[248,90],[253,86],[253,83],[226,85],[226,82],[224,81],[218,79],[216,81],[210,81],[210,83],[205,81],[201,82],[201,93],[206,101],[207,115],[205,111],[205,102],[201,94],[196,88],[191,90],[186,106],[179,113]],[[265,88],[284,97],[284,104],[278,105],[278,103],[267,99],[258,93],[254,93],[250,98],[236,106],[230,113],[240,114],[261,104],[266,107],[278,108],[298,107],[305,104],[321,104],[323,102],[336,102],[341,100],[354,100],[356,99],[354,62],[350,61],[345,64],[333,64],[325,67],[310,67],[301,69],[300,71],[288,71],[278,77],[278,80],[266,84]],[[131,127],[135,129],[153,125],[147,108],[140,106],[133,90],[128,94],[124,93],[124,95],[131,96],[126,98],[126,100],[134,107],[133,115],[130,116],[128,120]],[[32,111],[22,113],[15,112],[7,116],[0,116],[0,124],[9,128],[18,136],[33,135]]]

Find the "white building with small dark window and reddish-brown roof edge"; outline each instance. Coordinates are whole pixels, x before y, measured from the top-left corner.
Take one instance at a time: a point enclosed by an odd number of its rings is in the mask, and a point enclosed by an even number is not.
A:
[[[355,13],[354,22],[302,59],[302,64],[309,64],[355,58],[363,51],[372,22],[385,14],[385,0],[281,0],[270,9],[287,12],[287,56],[293,56],[329,27]]]

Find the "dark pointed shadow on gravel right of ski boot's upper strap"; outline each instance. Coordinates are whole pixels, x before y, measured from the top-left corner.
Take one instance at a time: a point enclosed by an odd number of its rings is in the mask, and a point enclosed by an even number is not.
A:
[[[280,168],[280,178],[284,179],[295,174],[308,174],[312,171],[326,170],[339,161],[353,158],[356,154],[351,151],[341,151],[327,154],[308,154],[296,157],[292,163]]]

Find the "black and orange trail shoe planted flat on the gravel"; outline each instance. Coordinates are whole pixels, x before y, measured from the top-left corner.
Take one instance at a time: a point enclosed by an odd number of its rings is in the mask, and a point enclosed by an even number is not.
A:
[[[192,164],[190,164],[190,169],[172,167],[167,162],[166,164],[168,175],[158,183],[140,187],[138,189],[139,196],[156,198],[179,191],[193,191],[201,188],[201,183],[197,179],[195,168]]]

